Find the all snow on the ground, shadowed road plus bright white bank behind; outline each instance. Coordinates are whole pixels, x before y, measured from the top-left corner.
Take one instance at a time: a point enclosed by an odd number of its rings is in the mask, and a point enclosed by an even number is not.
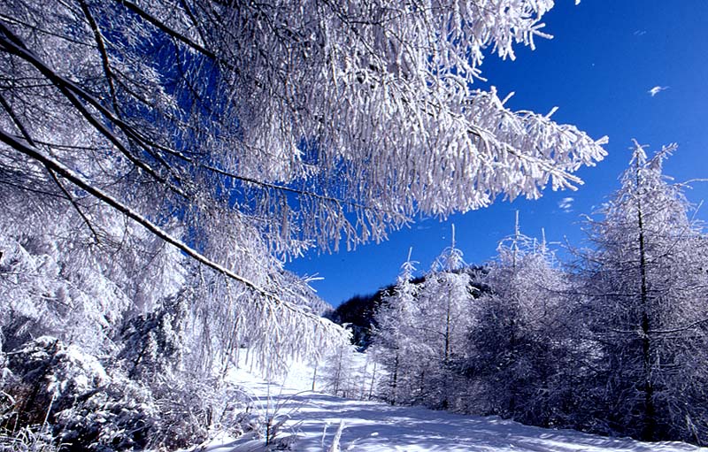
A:
[[[521,425],[497,417],[463,416],[421,407],[390,406],[381,402],[342,399],[309,390],[312,374],[291,372],[285,385],[268,384],[245,370],[231,378],[246,387],[260,415],[273,416],[281,427],[278,438],[296,442],[301,452],[686,452],[706,451],[681,442],[648,443],[606,438],[573,430],[551,430]],[[331,448],[343,422],[340,448]],[[323,435],[323,432],[326,432]],[[262,452],[263,439],[224,436],[196,450],[204,452]],[[274,448],[273,448],[274,450]]]

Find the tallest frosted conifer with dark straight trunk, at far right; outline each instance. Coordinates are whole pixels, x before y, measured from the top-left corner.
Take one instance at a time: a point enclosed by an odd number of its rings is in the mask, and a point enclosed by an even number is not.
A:
[[[608,428],[645,440],[708,439],[708,241],[685,186],[663,174],[675,146],[635,142],[621,188],[589,218],[583,320],[596,341],[596,401]]]

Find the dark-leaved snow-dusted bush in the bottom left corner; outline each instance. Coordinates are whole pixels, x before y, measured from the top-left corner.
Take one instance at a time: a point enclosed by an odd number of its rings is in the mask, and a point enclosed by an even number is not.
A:
[[[4,392],[15,403],[3,419],[6,432],[39,425],[67,452],[148,446],[158,419],[150,391],[109,376],[95,357],[43,336],[9,353],[7,367]]]

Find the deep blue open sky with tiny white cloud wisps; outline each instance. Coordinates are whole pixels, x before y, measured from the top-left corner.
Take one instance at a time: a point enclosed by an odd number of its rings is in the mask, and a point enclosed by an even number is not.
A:
[[[507,103],[512,110],[545,113],[558,106],[556,121],[575,124],[594,138],[610,137],[609,156],[578,173],[585,185],[575,192],[548,189],[536,201],[499,199],[443,222],[419,220],[389,234],[389,241],[334,255],[313,252],[288,264],[289,270],[319,274],[324,280],[312,287],[338,305],[393,282],[410,247],[419,270],[427,270],[450,245],[451,223],[466,262],[488,261],[497,242],[512,233],[516,210],[525,234],[540,237],[543,227],[549,241],[567,237],[581,245],[581,214],[594,211],[619,187],[632,138],[650,149],[677,142],[666,174],[676,180],[708,178],[708,0],[583,0],[578,6],[558,0],[543,22],[552,40],[537,40],[535,51],[518,48],[515,61],[489,56],[482,75],[501,97],[516,92]],[[656,86],[668,88],[652,97],[648,91]],[[693,203],[708,201],[708,182],[694,184],[687,195]],[[568,197],[570,205],[561,208]],[[708,219],[708,205],[697,217]]]

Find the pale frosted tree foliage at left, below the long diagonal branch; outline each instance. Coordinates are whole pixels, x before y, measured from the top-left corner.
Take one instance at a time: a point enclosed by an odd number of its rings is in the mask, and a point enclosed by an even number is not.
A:
[[[8,201],[0,215],[6,349],[45,334],[93,351],[105,348],[124,316],[154,309],[184,282],[177,249],[111,210],[87,210],[96,215],[94,236],[81,230],[83,220],[72,208],[53,206],[51,218],[46,211],[23,217],[21,202],[0,196]]]

